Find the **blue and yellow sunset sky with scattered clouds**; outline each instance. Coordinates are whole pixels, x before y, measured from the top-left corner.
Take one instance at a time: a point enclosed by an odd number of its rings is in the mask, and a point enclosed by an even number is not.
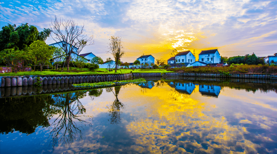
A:
[[[172,50],[218,49],[223,57],[277,52],[277,1],[273,0],[1,0],[0,26],[28,23],[39,31],[55,16],[84,25],[104,61],[109,38],[119,36],[123,62],[141,55],[167,60]],[[53,34],[52,34],[53,35]],[[54,36],[53,36],[54,37]],[[50,36],[46,44],[55,43]]]

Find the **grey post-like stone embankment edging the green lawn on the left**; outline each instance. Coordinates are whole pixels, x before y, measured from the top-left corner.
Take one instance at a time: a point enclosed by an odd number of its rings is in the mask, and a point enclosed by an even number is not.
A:
[[[131,77],[159,77],[161,73],[126,73],[126,74],[99,74],[99,75],[28,75],[28,76],[2,76],[0,77],[1,87],[32,86],[40,84],[79,84],[94,83],[103,81],[125,80]]]

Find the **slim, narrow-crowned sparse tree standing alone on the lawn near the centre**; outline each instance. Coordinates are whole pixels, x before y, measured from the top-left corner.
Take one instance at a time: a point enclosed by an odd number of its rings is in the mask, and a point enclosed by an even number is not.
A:
[[[118,62],[120,61],[120,58],[123,56],[124,51],[123,51],[123,46],[122,46],[122,42],[121,42],[121,37],[115,37],[112,36],[109,40],[111,40],[108,48],[110,49],[110,52],[115,59],[115,73],[116,73],[116,69],[117,69],[117,65]]]

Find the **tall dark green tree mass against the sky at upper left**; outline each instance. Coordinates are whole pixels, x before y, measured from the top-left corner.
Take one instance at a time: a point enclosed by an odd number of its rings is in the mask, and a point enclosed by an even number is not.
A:
[[[35,26],[28,25],[28,23],[16,25],[8,24],[3,26],[0,31],[0,51],[4,49],[14,48],[15,50],[27,50],[27,47],[33,41],[45,41],[49,37],[51,30],[45,29],[41,32]]]

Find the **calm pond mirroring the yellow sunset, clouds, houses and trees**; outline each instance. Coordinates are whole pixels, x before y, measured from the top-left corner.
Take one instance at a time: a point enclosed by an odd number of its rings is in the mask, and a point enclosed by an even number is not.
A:
[[[277,84],[149,80],[2,97],[1,153],[277,153]]]

